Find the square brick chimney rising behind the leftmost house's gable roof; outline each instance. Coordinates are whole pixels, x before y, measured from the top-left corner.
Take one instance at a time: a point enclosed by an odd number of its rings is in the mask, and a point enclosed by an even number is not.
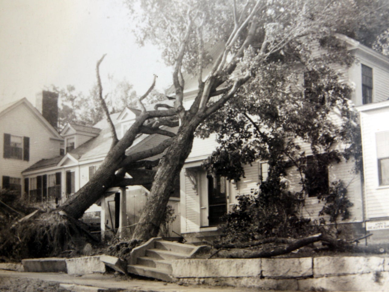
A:
[[[58,129],[58,93],[43,90],[36,95],[36,107],[56,130]]]

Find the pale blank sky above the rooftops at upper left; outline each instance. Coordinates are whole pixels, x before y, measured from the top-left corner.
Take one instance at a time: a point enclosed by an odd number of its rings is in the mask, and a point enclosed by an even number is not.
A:
[[[88,93],[104,53],[103,85],[110,74],[143,94],[155,73],[163,90],[172,69],[154,47],[138,47],[131,30],[122,0],[0,0],[0,105],[23,97],[35,105],[51,84]]]

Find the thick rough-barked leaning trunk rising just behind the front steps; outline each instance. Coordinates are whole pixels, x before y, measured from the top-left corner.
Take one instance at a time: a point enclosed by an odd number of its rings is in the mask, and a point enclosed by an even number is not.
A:
[[[132,239],[147,241],[151,237],[158,236],[159,226],[162,223],[170,193],[175,185],[175,179],[179,179],[184,162],[192,150],[195,129],[194,123],[188,122],[186,125],[182,125],[161,159],[146,208],[142,212]]]

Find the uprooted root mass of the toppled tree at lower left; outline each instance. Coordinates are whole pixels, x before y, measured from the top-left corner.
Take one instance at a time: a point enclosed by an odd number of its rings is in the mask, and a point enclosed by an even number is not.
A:
[[[20,260],[68,255],[82,250],[87,242],[96,241],[78,220],[54,212],[41,212],[1,230],[0,256]]]

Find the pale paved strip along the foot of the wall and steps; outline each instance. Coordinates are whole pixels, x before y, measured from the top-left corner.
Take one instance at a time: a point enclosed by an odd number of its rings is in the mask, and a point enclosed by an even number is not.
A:
[[[64,273],[29,273],[0,270],[1,277],[30,278],[58,283],[94,286],[112,289],[151,290],[155,292],[256,292],[251,288],[210,287],[204,285],[178,285],[154,280],[129,279],[113,274],[88,274],[83,276],[70,276]],[[267,290],[268,291],[268,290]]]

